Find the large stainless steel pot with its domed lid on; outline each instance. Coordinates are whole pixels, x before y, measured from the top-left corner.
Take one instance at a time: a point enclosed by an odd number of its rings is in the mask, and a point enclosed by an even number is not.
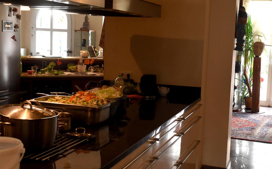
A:
[[[58,116],[59,112],[30,101],[0,106],[1,134],[21,140],[27,152],[49,149],[58,133]]]

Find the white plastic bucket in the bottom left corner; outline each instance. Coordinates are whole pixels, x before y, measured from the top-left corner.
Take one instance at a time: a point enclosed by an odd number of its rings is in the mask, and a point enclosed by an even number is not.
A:
[[[19,169],[25,154],[21,140],[13,137],[0,137],[0,165],[5,169]]]

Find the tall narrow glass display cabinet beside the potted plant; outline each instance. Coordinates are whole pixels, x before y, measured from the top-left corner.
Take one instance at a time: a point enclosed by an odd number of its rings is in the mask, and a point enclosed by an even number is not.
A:
[[[244,77],[245,51],[236,51],[235,77],[233,92],[233,111],[238,112],[242,109],[242,85]]]

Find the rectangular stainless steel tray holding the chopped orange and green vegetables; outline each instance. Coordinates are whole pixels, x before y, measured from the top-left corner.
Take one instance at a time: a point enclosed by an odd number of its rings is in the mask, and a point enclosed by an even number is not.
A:
[[[59,95],[58,95],[59,96]],[[72,123],[81,124],[98,124],[109,119],[110,115],[110,104],[114,101],[108,101],[107,104],[102,106],[82,106],[75,104],[65,104],[65,103],[55,103],[47,101],[49,98],[54,98],[56,95],[42,96],[39,98],[31,99],[30,101],[39,101],[42,106],[48,109],[58,109],[62,112],[71,113]],[[61,96],[61,97],[71,97],[71,96]]]

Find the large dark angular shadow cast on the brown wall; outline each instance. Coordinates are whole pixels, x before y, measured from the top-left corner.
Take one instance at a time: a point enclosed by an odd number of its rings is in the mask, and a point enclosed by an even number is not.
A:
[[[203,43],[133,35],[130,49],[140,71],[156,74],[158,84],[201,87]]]

